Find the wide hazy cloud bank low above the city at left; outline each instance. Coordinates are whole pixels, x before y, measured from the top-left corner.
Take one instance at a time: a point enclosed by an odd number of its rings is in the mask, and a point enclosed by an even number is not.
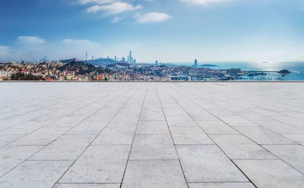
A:
[[[72,57],[85,59],[86,49],[88,56],[97,56],[105,50],[101,44],[86,39],[48,42],[39,37],[20,36],[14,41],[14,46],[0,46],[0,60],[38,60],[43,56],[55,60]]]

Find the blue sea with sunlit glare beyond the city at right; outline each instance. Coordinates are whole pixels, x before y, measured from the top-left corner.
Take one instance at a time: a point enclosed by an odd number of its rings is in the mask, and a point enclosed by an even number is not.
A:
[[[267,62],[203,62],[203,64],[212,64],[217,66],[210,66],[211,69],[231,69],[240,68],[241,71],[281,71],[288,70],[289,74],[282,76],[280,73],[267,73],[267,75],[242,75],[238,77],[240,81],[304,81],[304,61],[267,61]]]

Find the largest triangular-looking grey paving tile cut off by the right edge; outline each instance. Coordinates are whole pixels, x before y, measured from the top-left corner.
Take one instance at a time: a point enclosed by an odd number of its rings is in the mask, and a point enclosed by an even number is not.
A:
[[[304,146],[262,145],[262,147],[304,174]]]

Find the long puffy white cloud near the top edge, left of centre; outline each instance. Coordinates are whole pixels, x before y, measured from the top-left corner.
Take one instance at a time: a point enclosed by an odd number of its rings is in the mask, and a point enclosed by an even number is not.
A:
[[[125,12],[125,11],[141,9],[141,8],[142,8],[141,5],[137,5],[136,7],[134,7],[132,4],[119,1],[119,2],[114,2],[112,4],[107,4],[107,5],[91,6],[91,7],[87,8],[86,11],[89,13],[91,13],[91,12],[95,13],[98,11],[106,11],[107,14],[113,15],[113,14],[118,14],[118,13]]]

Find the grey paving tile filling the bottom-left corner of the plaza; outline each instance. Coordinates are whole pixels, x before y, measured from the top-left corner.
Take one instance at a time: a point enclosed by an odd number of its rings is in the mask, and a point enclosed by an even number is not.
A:
[[[0,177],[1,188],[51,188],[73,161],[25,161]]]

